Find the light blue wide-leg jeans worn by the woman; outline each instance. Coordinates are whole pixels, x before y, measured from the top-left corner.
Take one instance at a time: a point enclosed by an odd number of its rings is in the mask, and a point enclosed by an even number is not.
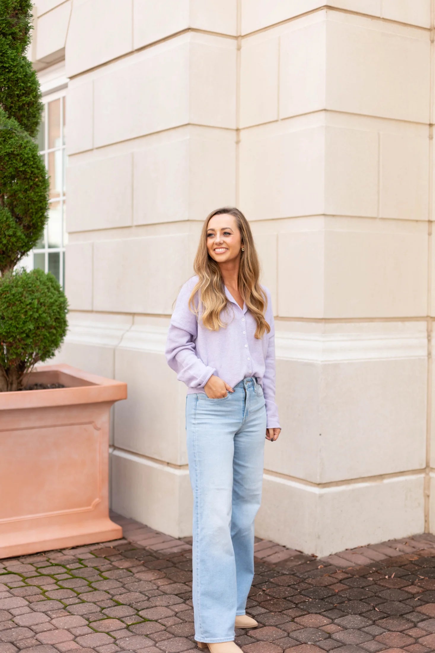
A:
[[[188,394],[186,431],[193,507],[195,639],[234,639],[254,576],[254,518],[263,481],[266,411],[254,377],[222,399]]]

